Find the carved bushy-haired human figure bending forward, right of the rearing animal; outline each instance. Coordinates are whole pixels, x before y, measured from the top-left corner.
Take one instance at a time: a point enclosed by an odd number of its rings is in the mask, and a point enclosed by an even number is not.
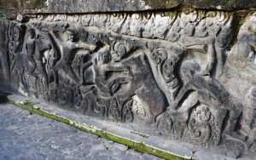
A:
[[[241,117],[242,105],[226,90],[224,86],[211,77],[203,77],[201,69],[195,62],[187,62],[181,67],[183,88],[178,92],[173,109],[177,109],[185,97],[192,91],[197,92],[198,100],[218,109],[224,108],[230,111],[230,119],[224,133],[241,142],[245,136],[237,134],[237,123]]]

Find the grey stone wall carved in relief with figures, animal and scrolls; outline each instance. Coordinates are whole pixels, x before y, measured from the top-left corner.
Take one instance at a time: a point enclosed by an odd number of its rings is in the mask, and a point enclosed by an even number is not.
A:
[[[255,155],[256,13],[31,14],[8,32],[0,65],[21,94]]]

